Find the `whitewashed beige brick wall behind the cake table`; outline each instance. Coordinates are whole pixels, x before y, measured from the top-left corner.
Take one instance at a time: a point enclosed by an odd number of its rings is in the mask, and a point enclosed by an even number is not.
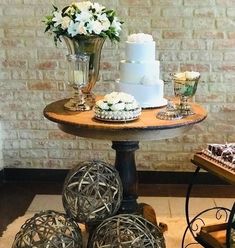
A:
[[[113,162],[109,141],[62,133],[43,117],[46,104],[69,95],[66,49],[44,34],[46,0],[0,1],[0,122],[3,160],[7,167],[70,168],[77,161],[99,158]],[[63,6],[68,0],[54,0]],[[103,0],[125,21],[122,42],[106,41],[100,82],[95,91],[114,89],[129,33],[151,33],[157,42],[162,78],[170,72],[202,73],[196,101],[209,116],[185,136],[144,142],[138,168],[191,170],[192,154],[209,142],[235,141],[235,1],[234,0]],[[166,85],[166,95],[171,92]]]

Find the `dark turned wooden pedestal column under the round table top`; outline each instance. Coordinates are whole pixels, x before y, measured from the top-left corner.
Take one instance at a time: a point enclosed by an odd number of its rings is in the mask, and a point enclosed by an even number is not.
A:
[[[112,148],[116,151],[115,167],[123,185],[123,201],[119,213],[135,213],[138,208],[135,151],[139,149],[139,142],[113,141]]]

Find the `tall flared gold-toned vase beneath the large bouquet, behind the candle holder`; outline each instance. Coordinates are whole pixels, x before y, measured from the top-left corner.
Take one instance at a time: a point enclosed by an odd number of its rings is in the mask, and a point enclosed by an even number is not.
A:
[[[82,88],[82,92],[85,96],[86,103],[92,108],[95,103],[95,97],[92,93],[92,89],[98,80],[101,50],[105,42],[105,38],[96,35],[81,35],[74,38],[64,36],[63,39],[66,43],[69,55],[83,53],[89,55],[88,83]]]

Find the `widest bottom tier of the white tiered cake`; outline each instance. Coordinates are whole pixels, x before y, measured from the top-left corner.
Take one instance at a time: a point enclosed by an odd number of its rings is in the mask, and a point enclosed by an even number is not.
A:
[[[116,90],[135,97],[142,108],[159,108],[167,104],[163,97],[164,84],[159,80],[156,84],[127,84],[118,81]]]

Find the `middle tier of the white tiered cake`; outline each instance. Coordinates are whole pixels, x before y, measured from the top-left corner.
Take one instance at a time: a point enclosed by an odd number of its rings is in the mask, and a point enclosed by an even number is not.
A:
[[[158,60],[150,62],[120,62],[120,81],[133,84],[155,84],[159,80]]]

